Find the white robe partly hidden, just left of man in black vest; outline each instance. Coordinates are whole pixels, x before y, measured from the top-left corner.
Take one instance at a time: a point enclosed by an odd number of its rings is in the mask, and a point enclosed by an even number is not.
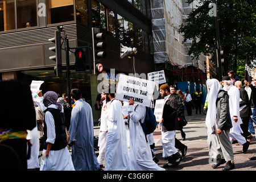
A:
[[[30,143],[32,144],[30,159],[27,160],[27,168],[28,169],[39,168],[40,167],[39,162],[38,162],[39,136],[38,136],[37,122],[36,122],[36,126],[34,127],[34,129],[27,130],[27,140],[30,140]]]

